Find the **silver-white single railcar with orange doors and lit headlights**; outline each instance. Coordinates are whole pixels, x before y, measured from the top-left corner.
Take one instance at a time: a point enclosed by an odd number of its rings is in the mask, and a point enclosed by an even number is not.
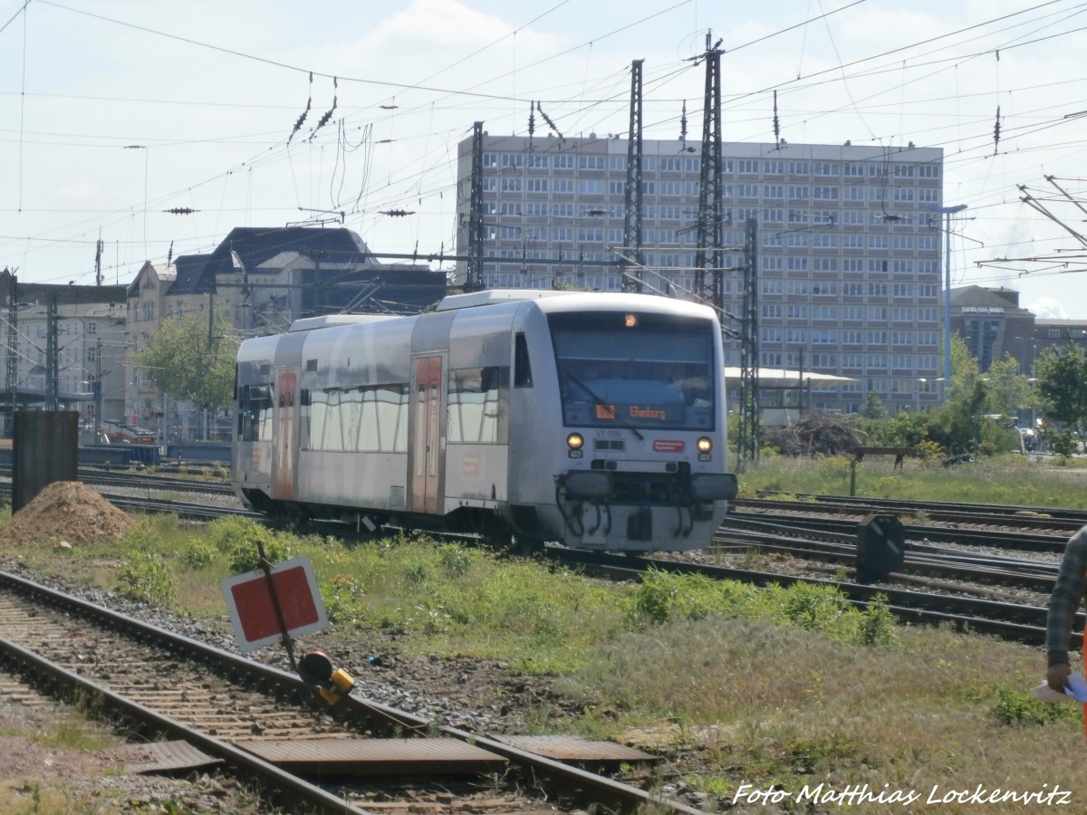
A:
[[[721,327],[646,294],[490,290],[301,319],[238,353],[253,509],[526,547],[707,546],[735,497]]]

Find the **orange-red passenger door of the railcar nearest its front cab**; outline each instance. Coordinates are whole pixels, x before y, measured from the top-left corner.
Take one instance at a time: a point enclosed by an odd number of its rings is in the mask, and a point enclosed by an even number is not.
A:
[[[412,479],[411,511],[437,513],[445,460],[445,422],[442,405],[442,364],[440,356],[415,359],[415,384],[412,390]]]

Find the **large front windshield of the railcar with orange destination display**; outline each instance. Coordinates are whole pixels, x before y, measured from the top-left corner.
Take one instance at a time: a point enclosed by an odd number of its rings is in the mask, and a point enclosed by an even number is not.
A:
[[[714,429],[713,321],[578,312],[548,323],[567,426]]]

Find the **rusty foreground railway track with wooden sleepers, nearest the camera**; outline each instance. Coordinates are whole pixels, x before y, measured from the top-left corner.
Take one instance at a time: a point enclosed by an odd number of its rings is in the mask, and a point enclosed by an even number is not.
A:
[[[360,783],[367,768],[376,768],[383,779],[413,778],[416,791],[439,785],[448,806],[436,812],[464,805],[473,812],[523,812],[545,801],[616,812],[649,804],[697,812],[510,740],[445,727],[354,695],[330,707],[292,674],[14,575],[0,574],[0,660],[32,677],[35,687],[91,700],[149,738],[183,741],[259,779],[274,791],[273,801],[290,807],[364,812],[374,783],[395,787],[373,779]],[[459,785],[455,779],[465,774],[471,783]],[[459,790],[476,792],[482,783],[496,790],[489,804],[478,795],[458,804]]]

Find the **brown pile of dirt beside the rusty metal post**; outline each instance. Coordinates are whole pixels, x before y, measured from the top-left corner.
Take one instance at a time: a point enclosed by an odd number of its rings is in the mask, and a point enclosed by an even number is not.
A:
[[[79,481],[54,481],[0,529],[0,544],[115,540],[133,519]]]

